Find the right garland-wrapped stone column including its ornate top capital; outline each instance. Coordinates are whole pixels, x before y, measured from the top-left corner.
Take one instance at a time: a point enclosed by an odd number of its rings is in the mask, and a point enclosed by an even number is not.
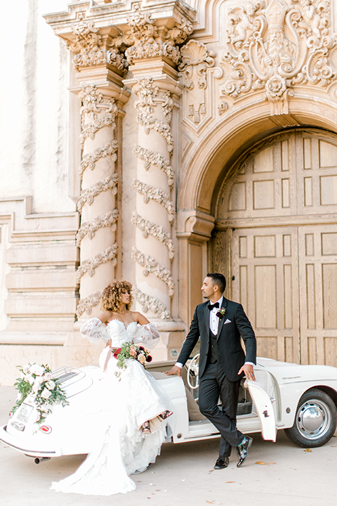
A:
[[[136,299],[149,318],[171,319],[171,298],[176,284],[172,262],[175,258],[172,231],[175,205],[172,197],[176,174],[170,157],[174,142],[171,119],[183,86],[178,82],[176,65],[180,60],[177,44],[192,33],[190,20],[173,11],[170,18],[154,20],[151,13],[135,13],[128,22],[131,46],[125,52],[133,73],[126,81],[136,94],[138,142],[136,210],[136,245],[132,258],[136,262]]]

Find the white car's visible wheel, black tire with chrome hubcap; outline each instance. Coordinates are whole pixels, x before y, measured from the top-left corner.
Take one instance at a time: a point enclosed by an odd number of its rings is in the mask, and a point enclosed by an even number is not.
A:
[[[293,427],[284,432],[301,448],[317,448],[331,439],[336,423],[337,410],[331,397],[322,390],[310,389],[300,398]]]

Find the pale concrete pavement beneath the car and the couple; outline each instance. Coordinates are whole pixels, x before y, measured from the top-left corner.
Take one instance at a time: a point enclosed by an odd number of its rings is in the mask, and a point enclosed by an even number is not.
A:
[[[0,387],[0,423],[15,401],[13,387]],[[136,491],[110,497],[56,493],[51,481],[72,474],[83,455],[39,465],[0,443],[0,498],[6,506],[336,506],[337,437],[306,452],[280,431],[277,443],[253,434],[249,457],[237,469],[233,452],[227,469],[214,470],[218,439],[162,446],[146,472],[132,476]],[[266,465],[257,462],[265,462]]]

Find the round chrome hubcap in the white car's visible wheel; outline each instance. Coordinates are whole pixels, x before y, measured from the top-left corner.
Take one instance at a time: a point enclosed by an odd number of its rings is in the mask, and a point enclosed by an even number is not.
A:
[[[300,406],[296,425],[299,432],[307,439],[317,439],[327,432],[330,425],[330,412],[326,404],[317,399],[305,402]]]

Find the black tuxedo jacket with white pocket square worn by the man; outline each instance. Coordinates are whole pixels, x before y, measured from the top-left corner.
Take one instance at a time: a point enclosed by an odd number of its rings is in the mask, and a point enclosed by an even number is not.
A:
[[[200,337],[199,377],[202,377],[204,374],[207,363],[207,353],[209,353],[208,304],[209,302],[207,301],[196,307],[190,326],[190,332],[187,334],[177,361],[182,364],[186,363]],[[218,350],[225,375],[228,380],[234,382],[243,376],[238,376],[237,373],[240,368],[242,368],[245,361],[256,363],[256,338],[251,323],[241,304],[237,304],[237,302],[232,302],[223,297],[222,307],[225,308],[225,316],[219,320],[217,335]],[[246,358],[241,346],[240,336],[244,340],[244,345],[246,347]]]

